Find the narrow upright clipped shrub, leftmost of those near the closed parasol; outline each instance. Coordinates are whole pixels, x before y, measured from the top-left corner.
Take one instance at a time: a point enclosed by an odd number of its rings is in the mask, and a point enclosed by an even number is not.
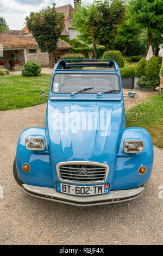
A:
[[[137,83],[140,80],[141,76],[145,75],[146,64],[147,60],[145,58],[141,58],[140,62],[136,65],[134,77],[134,89],[136,90],[142,89]]]

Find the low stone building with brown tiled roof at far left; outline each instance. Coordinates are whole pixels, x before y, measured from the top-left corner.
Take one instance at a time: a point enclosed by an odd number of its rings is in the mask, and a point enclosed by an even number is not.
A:
[[[0,44],[3,46],[3,57],[0,60],[5,62],[5,68],[11,69],[10,60],[20,60],[24,65],[27,61],[39,63],[42,67],[49,65],[49,56],[47,52],[43,52],[30,33],[20,33],[20,31],[9,31],[0,35]],[[56,61],[60,56],[70,53],[72,46],[67,42],[58,40],[57,51],[55,51]],[[15,70],[21,69],[16,67]]]

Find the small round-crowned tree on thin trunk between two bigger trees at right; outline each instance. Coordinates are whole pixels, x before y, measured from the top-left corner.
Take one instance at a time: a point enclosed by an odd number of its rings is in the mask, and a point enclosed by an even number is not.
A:
[[[127,46],[129,42],[137,40],[137,35],[139,34],[139,29],[134,25],[129,23],[129,13],[126,16],[126,20],[118,27],[117,36],[124,44],[124,53],[123,57],[126,56]]]

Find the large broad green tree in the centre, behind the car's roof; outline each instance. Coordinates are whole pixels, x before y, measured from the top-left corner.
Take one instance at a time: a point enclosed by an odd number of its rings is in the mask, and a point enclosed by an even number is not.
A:
[[[79,32],[78,38],[87,44],[93,44],[95,58],[97,45],[104,45],[108,51],[110,45],[115,44],[117,25],[123,20],[124,10],[121,0],[95,0],[92,4],[79,5],[73,12],[72,22]]]

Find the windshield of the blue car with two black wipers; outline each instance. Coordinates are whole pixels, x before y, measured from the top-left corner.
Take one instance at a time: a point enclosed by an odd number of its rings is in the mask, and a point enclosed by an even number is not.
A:
[[[52,85],[53,93],[70,93],[71,95],[74,93],[119,93],[120,89],[119,79],[115,74],[56,74]]]

